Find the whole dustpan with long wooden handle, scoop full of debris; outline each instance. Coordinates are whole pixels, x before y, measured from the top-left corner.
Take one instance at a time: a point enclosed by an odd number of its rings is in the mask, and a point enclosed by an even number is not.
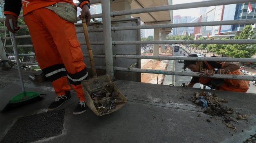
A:
[[[84,37],[85,37],[87,50],[89,54],[93,78],[88,80],[83,80],[81,84],[82,84],[82,88],[85,95],[86,105],[97,116],[102,116],[120,109],[127,102],[127,99],[118,90],[118,88],[116,88],[112,78],[109,75],[106,74],[106,75],[97,77],[96,69],[94,65],[94,59],[93,59],[93,51],[91,49],[91,44],[90,44],[90,39],[89,39],[89,34],[87,31],[87,25],[86,25],[85,19],[82,20],[82,25],[84,29]],[[101,94],[104,95],[102,98],[99,96]],[[92,98],[93,96],[97,99],[101,98],[101,100],[96,100],[95,98]],[[109,104],[105,104],[105,103],[109,103]]]

